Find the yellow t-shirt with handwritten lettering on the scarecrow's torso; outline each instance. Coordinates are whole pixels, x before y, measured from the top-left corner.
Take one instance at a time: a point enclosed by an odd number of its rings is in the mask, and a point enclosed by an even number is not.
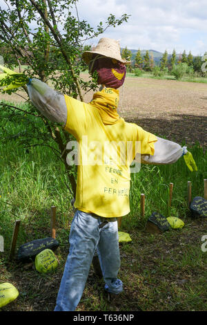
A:
[[[115,124],[103,124],[92,104],[68,95],[65,100],[65,130],[79,143],[75,207],[107,218],[125,216],[130,212],[130,164],[137,154],[135,143],[140,141],[141,154],[153,155],[157,138],[123,118]],[[132,154],[128,154],[127,143],[132,144]]]

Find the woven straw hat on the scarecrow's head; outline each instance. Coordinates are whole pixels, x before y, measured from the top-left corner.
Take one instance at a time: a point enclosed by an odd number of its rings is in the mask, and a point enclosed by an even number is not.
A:
[[[115,39],[107,37],[101,38],[98,45],[95,46],[93,50],[86,50],[86,52],[83,53],[83,61],[85,61],[86,64],[89,64],[92,57],[94,57],[94,54],[110,57],[111,59],[117,59],[117,61],[124,64],[129,63],[125,59],[121,58],[119,41],[116,41]]]

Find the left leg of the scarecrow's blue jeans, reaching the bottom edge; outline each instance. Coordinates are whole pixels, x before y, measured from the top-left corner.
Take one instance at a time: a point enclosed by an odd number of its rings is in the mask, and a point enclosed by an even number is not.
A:
[[[70,252],[61,279],[55,311],[73,311],[79,304],[99,241],[97,219],[77,210],[71,223],[69,241]]]

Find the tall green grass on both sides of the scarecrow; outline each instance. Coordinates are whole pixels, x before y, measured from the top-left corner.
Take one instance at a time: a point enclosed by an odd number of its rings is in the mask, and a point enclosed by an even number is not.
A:
[[[22,106],[23,107],[23,106]],[[4,123],[1,111],[1,124]],[[30,117],[29,119],[36,119]],[[9,248],[14,221],[21,220],[19,243],[48,236],[50,234],[50,207],[57,206],[58,236],[65,236],[68,222],[73,212],[72,198],[66,187],[65,167],[48,147],[23,149],[18,138],[5,138],[2,132],[18,133],[28,125],[28,117],[19,122],[5,120],[4,130],[0,131],[0,234],[3,235],[6,250]],[[41,121],[35,120],[41,129]],[[55,147],[54,143],[51,145]],[[197,163],[198,171],[190,172],[180,158],[174,165],[142,165],[141,171],[131,174],[130,208],[124,217],[121,228],[143,228],[146,219],[153,211],[179,216],[185,219],[188,214],[186,204],[187,181],[193,185],[193,196],[203,195],[203,180],[207,178],[207,153],[199,145],[190,148]],[[174,183],[172,208],[168,211],[168,185]],[[140,194],[146,195],[145,218],[140,216]],[[60,238],[61,239],[61,238]]]

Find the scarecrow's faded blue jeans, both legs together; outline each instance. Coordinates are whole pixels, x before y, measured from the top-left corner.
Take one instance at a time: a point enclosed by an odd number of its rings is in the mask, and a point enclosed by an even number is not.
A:
[[[104,219],[106,220],[106,219]],[[97,249],[105,289],[109,293],[121,293],[121,280],[117,221],[99,225],[103,218],[95,218],[77,210],[70,227],[70,251],[61,279],[55,311],[73,311],[77,308],[88,278],[92,257]]]

